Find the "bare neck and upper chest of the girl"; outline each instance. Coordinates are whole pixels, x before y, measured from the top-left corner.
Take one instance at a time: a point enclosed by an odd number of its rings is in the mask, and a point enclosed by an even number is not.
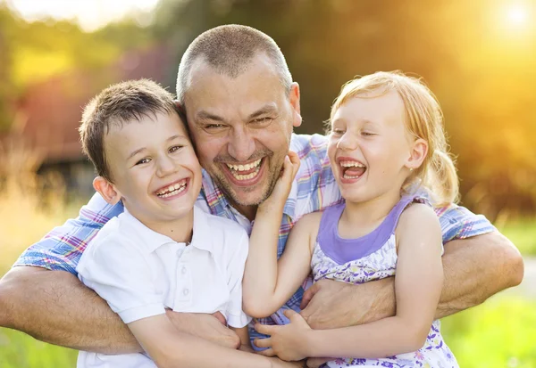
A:
[[[339,220],[339,234],[343,238],[358,238],[373,232],[400,200],[400,191],[381,194],[371,200],[346,202]]]

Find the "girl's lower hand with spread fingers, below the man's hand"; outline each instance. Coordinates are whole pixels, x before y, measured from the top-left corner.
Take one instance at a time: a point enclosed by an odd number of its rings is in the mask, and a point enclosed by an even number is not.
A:
[[[256,323],[255,330],[270,337],[255,339],[254,343],[259,348],[268,348],[259,352],[264,356],[279,356],[288,361],[304,359],[310,348],[306,344],[306,336],[313,330],[306,320],[293,310],[288,309],[284,314],[290,320],[290,323],[284,326]]]

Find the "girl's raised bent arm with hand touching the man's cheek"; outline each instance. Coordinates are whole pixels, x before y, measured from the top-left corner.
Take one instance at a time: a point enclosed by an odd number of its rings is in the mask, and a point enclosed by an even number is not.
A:
[[[277,260],[281,217],[299,167],[296,153],[289,152],[272,194],[257,209],[249,238],[249,254],[242,282],[243,308],[255,318],[272,315],[297,290],[309,273],[311,229],[315,217],[304,217],[289,234],[285,251]]]

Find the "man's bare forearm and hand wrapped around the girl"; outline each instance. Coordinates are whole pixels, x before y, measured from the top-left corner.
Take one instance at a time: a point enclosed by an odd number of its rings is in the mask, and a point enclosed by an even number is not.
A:
[[[477,306],[498,291],[518,285],[523,280],[523,258],[511,241],[495,231],[448,241],[443,270],[445,281],[435,318]],[[302,307],[301,315],[314,329],[378,321],[395,314],[394,279],[361,285],[317,282],[306,290]]]

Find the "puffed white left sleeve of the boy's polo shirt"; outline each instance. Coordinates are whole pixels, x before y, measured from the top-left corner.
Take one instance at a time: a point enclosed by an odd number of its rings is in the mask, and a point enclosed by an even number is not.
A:
[[[124,323],[164,314],[163,291],[155,285],[147,254],[118,233],[88,246],[77,267],[80,280],[104,298]]]

